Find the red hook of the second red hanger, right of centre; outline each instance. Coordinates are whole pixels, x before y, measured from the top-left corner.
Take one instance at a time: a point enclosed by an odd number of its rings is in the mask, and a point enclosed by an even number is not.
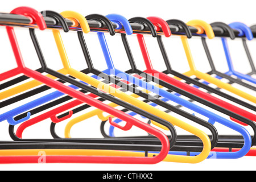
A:
[[[170,30],[168,23],[166,21],[164,21],[162,18],[159,18],[156,16],[150,16],[147,19],[150,20],[156,26],[156,31],[159,31],[160,27],[161,27],[164,35],[167,38],[172,35],[172,32]]]

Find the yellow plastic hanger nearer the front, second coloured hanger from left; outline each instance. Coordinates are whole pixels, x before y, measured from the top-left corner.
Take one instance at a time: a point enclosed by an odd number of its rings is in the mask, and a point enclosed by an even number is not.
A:
[[[79,19],[79,23],[82,26],[82,30],[85,33],[88,32],[89,26],[86,23],[86,19],[84,18],[84,16],[81,16],[80,14],[74,13],[72,11],[65,11],[63,13],[63,15],[68,17],[68,18],[76,17],[77,19]],[[76,22],[75,19],[72,18],[72,20]],[[83,21],[84,21],[84,23],[81,23]],[[79,23],[77,22],[76,25],[79,24]],[[61,59],[63,61],[63,65],[64,65],[64,69],[61,69],[59,72],[63,73],[63,75],[68,75],[68,74],[73,75],[73,76],[79,78],[80,80],[88,82],[90,85],[93,85],[93,86],[96,86],[96,87],[97,87],[98,84],[102,85],[102,82],[100,82],[100,81],[98,81],[98,80],[96,80],[96,79],[94,79],[90,76],[87,76],[84,73],[76,71],[75,69],[72,69],[70,67],[69,61],[67,59],[67,54],[65,52],[65,48],[63,46],[63,42],[62,42],[62,39],[60,37],[60,32],[57,31],[57,30],[53,30],[53,35],[55,35],[55,40],[56,40],[56,43],[58,45],[60,56],[61,56]],[[50,75],[48,75],[48,77],[56,79],[55,77],[50,76]],[[0,99],[11,97],[14,94],[24,92],[28,89],[34,88],[34,87],[39,86],[39,85],[42,85],[42,83],[39,82],[39,81],[33,80],[33,81],[30,81],[30,82],[27,82],[26,84],[17,86],[13,89],[7,90],[6,92],[0,93]],[[171,117],[171,115],[169,115],[167,113],[164,113],[163,111],[160,111],[160,110],[156,109],[155,107],[147,105],[146,103],[144,103],[142,101],[139,101],[134,97],[128,96],[125,93],[121,93],[121,92],[119,92],[119,90],[114,89],[111,86],[108,86],[106,84],[104,86],[105,86],[105,88],[107,88],[107,91],[109,93],[113,94],[113,96],[119,97],[122,100],[125,100],[125,101],[127,101],[131,104],[134,104],[134,105],[138,106],[138,107],[141,107],[144,110],[147,110],[151,113],[156,113],[156,115],[158,115],[158,117],[163,118],[166,121],[169,121],[173,125],[179,126],[184,130],[187,130],[188,132],[196,135],[197,137],[199,137],[203,141],[204,149],[199,155],[197,155],[197,156],[168,155],[168,157],[166,159],[168,162],[199,163],[199,162],[203,161],[204,159],[206,159],[208,157],[209,152],[210,152],[210,148],[211,148],[210,139],[209,139],[208,135],[205,134],[203,131],[197,129],[196,127],[188,125],[187,123],[181,121],[180,119]],[[104,90],[104,91],[106,91],[106,90]],[[99,114],[98,116],[102,117],[103,115]]]

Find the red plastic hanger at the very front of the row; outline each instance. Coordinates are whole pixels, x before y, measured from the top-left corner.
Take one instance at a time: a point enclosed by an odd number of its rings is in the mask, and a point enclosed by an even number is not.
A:
[[[25,15],[31,18],[31,24],[38,24],[40,30],[45,30],[46,22],[43,19],[42,14],[38,11],[31,9],[30,7],[18,7],[17,9],[11,11],[12,14]],[[34,78],[51,88],[55,88],[60,92],[68,94],[71,97],[77,98],[77,100],[81,102],[85,102],[91,106],[97,107],[105,111],[106,113],[112,114],[117,118],[121,118],[127,122],[126,128],[130,129],[131,126],[137,126],[148,133],[155,135],[155,137],[159,138],[162,143],[162,150],[159,155],[154,158],[138,158],[138,157],[119,157],[119,156],[47,156],[47,163],[122,163],[122,164],[155,164],[161,162],[164,158],[166,158],[168,151],[170,150],[170,143],[166,135],[164,135],[161,131],[156,130],[154,127],[147,125],[131,117],[128,114],[122,113],[121,111],[114,109],[113,107],[109,107],[108,105],[103,104],[102,102],[95,100],[92,97],[86,96],[85,94],[69,88],[48,78],[43,76],[41,73],[33,71],[29,68],[26,68],[24,65],[24,61],[18,46],[18,42],[15,36],[13,27],[6,27],[7,34],[10,39],[11,47],[13,48],[13,52],[15,55],[15,60],[18,65],[17,68],[12,69],[11,71],[7,71],[5,73],[0,74],[0,81],[6,80],[7,78],[14,77],[19,74],[24,74],[27,77]],[[117,125],[120,129],[124,129],[124,127]],[[38,163],[38,156],[1,156],[0,163]]]

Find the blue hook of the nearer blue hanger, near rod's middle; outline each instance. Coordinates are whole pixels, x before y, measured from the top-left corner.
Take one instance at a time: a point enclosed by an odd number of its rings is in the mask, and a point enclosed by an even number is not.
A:
[[[117,23],[117,30],[121,29],[123,26],[127,35],[133,34],[133,28],[131,28],[131,24],[124,16],[118,14],[109,14],[106,15],[106,18],[114,23]]]

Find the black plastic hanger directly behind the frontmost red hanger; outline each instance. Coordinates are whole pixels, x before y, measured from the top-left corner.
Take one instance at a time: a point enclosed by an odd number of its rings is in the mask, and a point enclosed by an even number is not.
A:
[[[63,18],[59,14],[54,13],[52,11],[44,11],[44,13],[46,15],[48,15],[48,13],[50,13],[50,16],[54,16],[55,18]],[[65,26],[65,24],[63,26]],[[97,89],[95,89],[95,88],[93,88],[91,86],[82,84],[81,82],[76,81],[76,80],[74,80],[71,77],[62,75],[61,73],[53,71],[52,69],[48,68],[46,63],[45,63],[45,61],[44,61],[43,54],[42,54],[42,51],[40,50],[39,44],[36,44],[38,42],[36,40],[36,36],[35,36],[35,32],[34,31],[35,31],[34,29],[30,29],[30,34],[31,34],[32,39],[33,39],[33,41],[35,43],[36,51],[39,53],[39,60],[40,60],[40,63],[42,64],[42,68],[44,69],[44,72],[46,72],[46,73],[48,73],[50,75],[53,75],[55,77],[59,77],[61,80],[64,80],[66,82],[70,82],[71,84],[76,85],[77,87],[81,87],[82,89],[84,89],[84,90],[86,90],[86,91],[88,91],[90,93],[96,94],[96,95],[98,95],[100,97],[103,97],[106,100],[112,101],[112,102],[114,102],[117,105],[124,106],[124,107],[126,107],[126,108],[128,108],[130,110],[136,111],[136,112],[138,112],[138,114],[144,115],[144,117],[147,117],[147,118],[152,119],[154,121],[156,120],[156,122],[159,122],[159,123],[161,123],[161,125],[164,125],[168,129],[170,129],[170,131],[171,131],[170,144],[171,144],[171,147],[174,146],[174,144],[176,142],[176,133],[175,133],[175,129],[171,125],[171,123],[169,123],[167,121],[164,121],[163,119],[160,119],[160,118],[156,117],[155,115],[147,113],[146,111],[144,111],[142,109],[134,107],[133,105],[130,105],[130,104],[127,104],[126,102],[120,101],[117,98],[109,96],[108,94],[99,93]],[[18,140],[18,141],[22,141],[22,142],[59,142],[59,141],[61,141],[61,142],[75,142],[75,143],[78,143],[80,141],[79,143],[81,143],[81,142],[82,143],[104,143],[104,144],[109,143],[109,145],[110,146],[114,146],[116,150],[118,150],[118,147],[119,148],[125,147],[126,143],[131,143],[131,140],[123,140],[123,139],[122,139],[122,141],[119,140],[119,139],[117,139],[117,140],[115,140],[115,139],[113,140],[112,139],[110,142],[106,142],[109,139],[88,139],[88,140],[86,140],[86,139],[82,139],[82,140],[79,140],[79,139],[65,139],[65,140],[63,140],[63,139],[19,139],[19,138],[16,137],[16,135],[14,133],[14,126],[11,126],[11,125],[9,127],[9,133],[10,133],[11,137],[14,140]],[[134,144],[131,145],[131,146],[134,146],[135,148],[138,147],[138,145],[140,145],[142,143],[143,143],[142,146],[145,145],[145,143],[146,144],[151,144],[152,143],[152,141],[150,141],[150,140],[134,140],[133,142],[134,142]],[[155,142],[159,143],[159,141],[155,141]],[[102,145],[102,146],[104,146],[104,145]],[[104,147],[104,148],[106,149],[106,147]],[[104,148],[102,148],[102,149],[104,149]],[[98,149],[98,147],[97,147],[97,149]],[[126,150],[127,150],[127,148],[126,148]],[[132,147],[129,150],[133,150]],[[141,148],[141,150],[142,150],[142,148]]]

